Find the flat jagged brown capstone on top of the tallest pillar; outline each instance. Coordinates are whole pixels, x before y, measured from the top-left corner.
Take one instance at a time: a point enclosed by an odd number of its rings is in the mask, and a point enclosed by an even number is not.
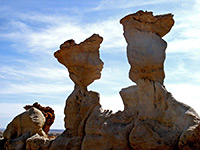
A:
[[[120,23],[123,24],[124,32],[131,31],[130,34],[134,32],[132,29],[137,29],[139,31],[153,32],[163,37],[171,30],[174,20],[172,14],[153,16],[153,12],[140,10],[125,16],[120,20]]]

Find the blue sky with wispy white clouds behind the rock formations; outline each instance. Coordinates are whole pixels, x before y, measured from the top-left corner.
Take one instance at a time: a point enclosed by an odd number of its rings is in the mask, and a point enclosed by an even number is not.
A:
[[[65,99],[73,82],[53,53],[64,41],[79,43],[93,33],[104,38],[104,69],[89,90],[100,93],[103,108],[123,109],[119,91],[134,83],[128,78],[119,20],[138,10],[174,14],[175,25],[164,37],[164,84],[200,114],[199,0],[0,0],[0,128],[36,101],[55,110],[52,128],[64,128]]]

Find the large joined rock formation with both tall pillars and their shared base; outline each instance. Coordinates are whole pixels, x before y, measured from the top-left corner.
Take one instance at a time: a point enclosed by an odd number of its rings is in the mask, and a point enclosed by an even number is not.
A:
[[[100,78],[102,38],[94,34],[80,44],[66,41],[55,53],[75,83],[65,106],[66,130],[50,150],[198,150],[200,118],[169,93],[164,81],[167,43],[162,36],[174,24],[171,14],[153,16],[139,11],[121,19],[131,65],[129,77],[137,85],[120,91],[124,111],[102,110],[99,94],[87,86]]]

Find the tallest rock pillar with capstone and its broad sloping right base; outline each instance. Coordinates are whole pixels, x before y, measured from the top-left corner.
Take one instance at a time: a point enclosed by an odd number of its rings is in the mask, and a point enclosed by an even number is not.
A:
[[[163,85],[167,44],[161,37],[173,26],[172,15],[154,17],[139,11],[120,22],[128,43],[129,77],[137,83],[120,92],[125,109],[137,114],[129,134],[131,148],[200,149],[199,116],[176,101]]]

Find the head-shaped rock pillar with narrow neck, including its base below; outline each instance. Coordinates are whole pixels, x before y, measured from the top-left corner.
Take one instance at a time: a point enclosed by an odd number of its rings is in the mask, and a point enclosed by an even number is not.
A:
[[[68,40],[55,52],[55,57],[68,68],[75,87],[66,100],[65,132],[55,139],[50,149],[80,149],[85,136],[86,121],[99,104],[99,94],[88,91],[87,86],[99,79],[103,62],[99,58],[99,48],[103,38],[93,34],[80,44]],[[65,142],[63,142],[65,141]]]

